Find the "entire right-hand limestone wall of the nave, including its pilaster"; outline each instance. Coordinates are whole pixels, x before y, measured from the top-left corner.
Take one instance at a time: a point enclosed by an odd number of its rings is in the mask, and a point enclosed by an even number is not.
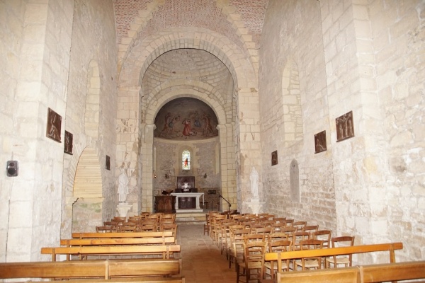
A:
[[[263,193],[271,212],[356,243],[402,241],[397,260],[421,259],[424,4],[354,2],[269,3],[259,79]],[[337,141],[336,117],[351,110],[355,136]],[[314,154],[322,130],[327,151]],[[290,200],[290,161],[300,170],[299,203]]]

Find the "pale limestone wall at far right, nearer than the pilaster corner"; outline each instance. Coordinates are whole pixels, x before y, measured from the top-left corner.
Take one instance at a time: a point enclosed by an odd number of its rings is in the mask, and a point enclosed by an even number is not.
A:
[[[387,238],[405,243],[400,258],[425,257],[425,4],[371,1],[371,48],[385,143],[385,183],[377,190]],[[375,125],[374,125],[375,126]],[[385,195],[385,197],[382,197]]]

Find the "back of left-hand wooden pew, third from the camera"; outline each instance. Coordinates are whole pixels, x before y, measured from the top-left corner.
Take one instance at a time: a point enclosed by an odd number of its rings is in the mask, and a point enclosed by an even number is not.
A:
[[[176,242],[174,237],[155,238],[82,238],[62,239],[60,246],[121,246],[121,245],[165,245]]]

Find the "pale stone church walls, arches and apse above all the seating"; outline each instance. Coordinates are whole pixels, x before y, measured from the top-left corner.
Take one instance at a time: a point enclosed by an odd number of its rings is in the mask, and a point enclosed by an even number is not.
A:
[[[0,262],[161,209],[424,260],[424,1],[0,0],[0,25]]]

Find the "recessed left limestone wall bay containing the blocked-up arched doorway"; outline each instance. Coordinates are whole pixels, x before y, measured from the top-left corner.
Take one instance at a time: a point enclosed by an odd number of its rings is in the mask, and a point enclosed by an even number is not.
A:
[[[115,183],[120,171],[117,173],[115,157],[116,62],[113,4],[76,1],[65,123],[65,129],[74,135],[74,153],[64,155],[62,236],[70,236],[75,230],[93,230],[117,214],[118,185]],[[84,149],[89,149],[95,157],[83,154]],[[110,170],[106,169],[106,156],[110,157]],[[90,158],[90,161],[82,158]],[[94,171],[97,175],[76,174],[81,164],[86,166],[84,171]],[[75,180],[76,176],[83,180]],[[76,192],[74,182],[77,181],[92,186],[100,182],[101,188],[96,194]],[[101,213],[94,207],[100,207]]]

